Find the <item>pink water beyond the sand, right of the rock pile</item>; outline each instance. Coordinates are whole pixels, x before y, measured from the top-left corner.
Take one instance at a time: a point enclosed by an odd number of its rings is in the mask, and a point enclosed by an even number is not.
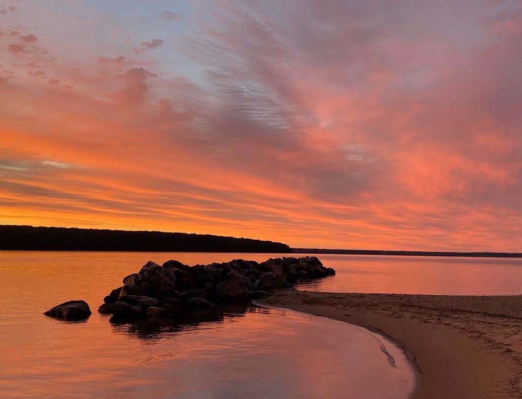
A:
[[[296,255],[300,256],[300,255]],[[519,295],[522,258],[317,255],[334,277],[299,284],[322,292]]]

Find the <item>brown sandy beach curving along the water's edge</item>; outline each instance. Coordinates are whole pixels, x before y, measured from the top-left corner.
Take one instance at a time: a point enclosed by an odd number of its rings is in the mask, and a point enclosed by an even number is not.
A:
[[[261,304],[385,335],[416,368],[412,398],[522,398],[522,296],[281,291]]]

